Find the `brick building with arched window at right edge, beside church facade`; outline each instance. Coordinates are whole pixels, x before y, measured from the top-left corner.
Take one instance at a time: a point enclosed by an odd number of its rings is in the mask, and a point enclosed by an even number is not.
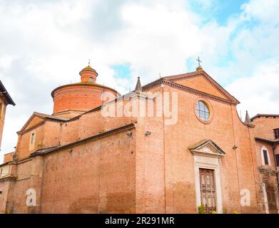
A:
[[[265,212],[278,213],[279,115],[258,114],[251,120]]]

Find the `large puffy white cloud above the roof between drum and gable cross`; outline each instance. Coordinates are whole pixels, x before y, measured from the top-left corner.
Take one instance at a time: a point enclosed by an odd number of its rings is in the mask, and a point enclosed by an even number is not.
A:
[[[201,49],[203,38],[186,11],[169,11],[161,4],[153,8],[133,4],[124,6],[121,15],[126,28],[116,35],[118,45],[111,43],[110,50],[131,62],[133,74],[143,74],[143,81],[160,72],[183,72],[186,58]]]

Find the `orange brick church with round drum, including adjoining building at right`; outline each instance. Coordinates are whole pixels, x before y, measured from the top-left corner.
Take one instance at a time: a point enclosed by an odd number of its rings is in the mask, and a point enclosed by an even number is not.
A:
[[[126,95],[80,76],[17,132],[1,213],[278,213],[279,115],[243,122],[201,66]]]

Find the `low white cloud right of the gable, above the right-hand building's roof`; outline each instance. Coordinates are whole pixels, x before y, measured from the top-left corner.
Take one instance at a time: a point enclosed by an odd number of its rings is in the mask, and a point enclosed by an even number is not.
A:
[[[267,61],[255,66],[252,76],[240,78],[226,86],[238,100],[238,110],[248,110],[250,117],[258,113],[279,113],[279,63]]]

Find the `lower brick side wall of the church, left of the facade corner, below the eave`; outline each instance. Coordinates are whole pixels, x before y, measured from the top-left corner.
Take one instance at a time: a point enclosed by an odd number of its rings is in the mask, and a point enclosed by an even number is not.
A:
[[[39,204],[36,210],[41,213],[135,212],[132,132],[131,138],[124,131],[20,163],[7,209],[27,213],[26,190],[33,188]]]

